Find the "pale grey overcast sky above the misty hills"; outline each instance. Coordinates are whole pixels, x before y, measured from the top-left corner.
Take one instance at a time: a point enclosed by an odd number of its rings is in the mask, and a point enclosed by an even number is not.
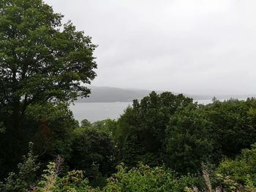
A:
[[[91,85],[256,93],[255,0],[45,0],[99,45]]]

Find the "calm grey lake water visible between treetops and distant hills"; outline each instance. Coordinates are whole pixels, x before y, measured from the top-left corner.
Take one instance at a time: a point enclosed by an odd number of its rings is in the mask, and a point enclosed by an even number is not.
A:
[[[198,100],[199,104],[209,104],[211,99]],[[70,109],[74,113],[74,117],[79,122],[83,119],[88,119],[94,122],[107,118],[116,119],[124,110],[131,105],[132,102],[113,102],[113,103],[75,103]]]

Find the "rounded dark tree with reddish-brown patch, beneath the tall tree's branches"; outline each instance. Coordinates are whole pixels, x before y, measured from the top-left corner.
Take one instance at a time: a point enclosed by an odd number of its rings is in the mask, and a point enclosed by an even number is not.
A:
[[[66,161],[71,153],[71,134],[78,128],[78,122],[66,104],[29,106],[26,111],[29,138],[33,138],[37,153],[44,161],[61,155]]]

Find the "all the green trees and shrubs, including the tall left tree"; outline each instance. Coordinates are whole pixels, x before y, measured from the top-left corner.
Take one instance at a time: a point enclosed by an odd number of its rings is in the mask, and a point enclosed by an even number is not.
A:
[[[0,191],[256,191],[256,99],[152,91],[117,120],[69,110],[97,45],[42,0],[0,2]]]

